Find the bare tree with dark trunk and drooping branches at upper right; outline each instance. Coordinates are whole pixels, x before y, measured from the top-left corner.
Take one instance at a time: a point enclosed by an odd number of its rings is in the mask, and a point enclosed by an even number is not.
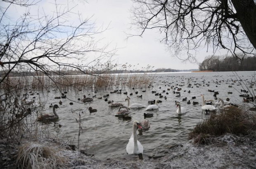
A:
[[[256,5],[254,0],[133,0],[133,21],[140,28],[158,29],[174,54],[187,53],[185,60],[194,61],[193,51],[202,46],[226,49],[237,60],[255,54]],[[243,53],[242,56],[237,53]]]

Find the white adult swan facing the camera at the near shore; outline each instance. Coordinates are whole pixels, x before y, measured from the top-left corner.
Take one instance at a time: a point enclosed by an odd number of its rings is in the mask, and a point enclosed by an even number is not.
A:
[[[143,153],[143,146],[140,144],[140,141],[137,140],[137,128],[141,129],[141,126],[140,123],[135,120],[133,122],[133,134],[130,137],[128,144],[126,145],[127,154]]]

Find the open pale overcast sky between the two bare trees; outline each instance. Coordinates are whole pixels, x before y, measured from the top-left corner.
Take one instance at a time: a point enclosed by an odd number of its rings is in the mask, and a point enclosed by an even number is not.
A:
[[[67,1],[57,0],[57,3],[62,3],[65,6]],[[38,9],[44,9],[44,12],[53,12],[54,5],[49,2],[54,2],[54,0],[42,0],[38,3],[38,8],[30,9],[30,13],[37,12]],[[115,62],[118,64],[136,65],[137,69],[142,69],[147,65],[154,66],[153,69],[198,69],[197,64],[183,63],[178,58],[171,56],[166,50],[166,46],[159,42],[161,35],[156,30],[147,30],[142,37],[127,39],[126,33],[131,32],[129,25],[131,23],[130,9],[133,5],[131,0],[87,0],[88,3],[84,4],[76,4],[77,2],[79,0],[74,0],[73,3],[69,2],[69,7],[76,5],[72,12],[79,12],[84,19],[92,16],[91,20],[95,21],[97,27],[109,25],[109,29],[98,35],[98,38],[104,38],[103,42],[111,43],[110,47],[119,48],[114,56]],[[13,12],[15,13],[15,11]],[[16,9],[16,13],[19,15],[19,9]],[[197,61],[202,62],[205,56],[212,54],[211,52],[206,53],[206,49],[198,51]],[[221,54],[220,52],[216,53],[216,55]]]

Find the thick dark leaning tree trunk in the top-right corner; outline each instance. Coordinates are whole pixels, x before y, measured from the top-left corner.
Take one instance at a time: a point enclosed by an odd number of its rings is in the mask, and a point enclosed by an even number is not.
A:
[[[256,5],[254,0],[231,0],[249,41],[256,49]]]

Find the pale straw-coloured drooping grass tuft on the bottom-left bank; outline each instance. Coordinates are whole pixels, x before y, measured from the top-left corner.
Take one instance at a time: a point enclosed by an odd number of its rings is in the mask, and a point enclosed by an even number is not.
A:
[[[56,148],[39,144],[26,144],[17,155],[19,168],[25,169],[55,169],[64,167],[66,161]]]

